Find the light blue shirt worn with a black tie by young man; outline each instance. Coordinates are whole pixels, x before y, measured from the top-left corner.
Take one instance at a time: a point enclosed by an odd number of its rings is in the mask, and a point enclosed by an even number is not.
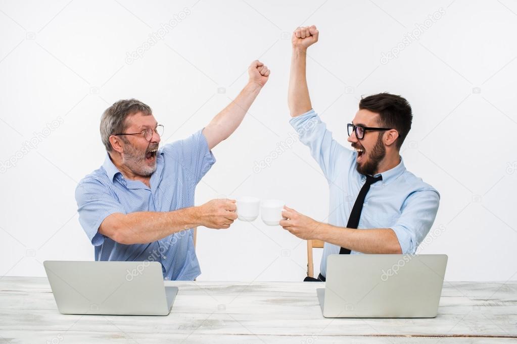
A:
[[[366,177],[356,170],[357,153],[332,139],[332,133],[314,110],[291,119],[290,123],[327,178],[328,223],[346,227],[359,190],[366,181]],[[414,254],[433,225],[440,195],[407,171],[402,157],[399,165],[379,174],[383,179],[370,187],[358,228],[391,228],[399,239],[402,253]],[[339,250],[339,246],[325,243],[320,267],[323,276],[326,275],[328,255],[339,254]]]

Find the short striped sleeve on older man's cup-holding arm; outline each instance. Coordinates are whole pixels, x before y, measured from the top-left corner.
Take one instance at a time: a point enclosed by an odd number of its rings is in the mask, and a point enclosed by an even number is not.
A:
[[[79,223],[94,246],[104,242],[99,226],[105,218],[115,213],[126,214],[123,206],[111,190],[95,178],[83,179],[75,189],[75,201],[79,212]]]

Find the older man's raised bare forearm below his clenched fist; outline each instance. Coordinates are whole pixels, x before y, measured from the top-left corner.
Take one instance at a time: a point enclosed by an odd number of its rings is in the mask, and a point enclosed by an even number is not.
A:
[[[219,142],[229,138],[235,132],[261,89],[261,85],[248,83],[235,100],[211,120],[203,130],[209,149],[214,148]]]

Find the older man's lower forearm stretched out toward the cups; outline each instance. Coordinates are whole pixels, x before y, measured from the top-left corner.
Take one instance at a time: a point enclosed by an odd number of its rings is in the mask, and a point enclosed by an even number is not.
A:
[[[149,243],[199,225],[197,207],[189,207],[166,212],[112,214],[104,219],[99,232],[123,244]]]

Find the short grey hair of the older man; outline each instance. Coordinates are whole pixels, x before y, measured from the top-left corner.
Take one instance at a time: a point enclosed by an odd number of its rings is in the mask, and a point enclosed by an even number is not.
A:
[[[136,99],[120,100],[104,111],[100,120],[100,137],[108,152],[112,150],[110,136],[124,132],[126,118],[136,112],[142,112],[145,116],[153,114],[148,105]]]

